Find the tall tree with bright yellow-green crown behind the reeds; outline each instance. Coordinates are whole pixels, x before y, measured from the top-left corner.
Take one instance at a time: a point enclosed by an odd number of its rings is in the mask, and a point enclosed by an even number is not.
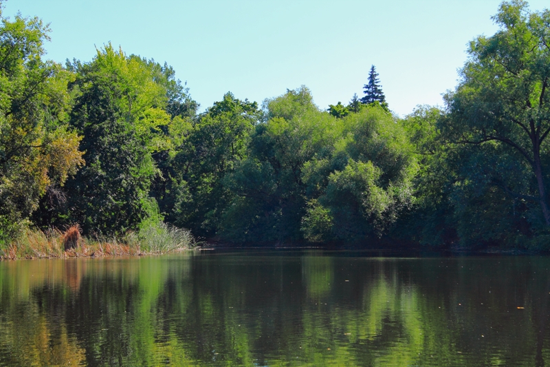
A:
[[[71,65],[69,65],[71,66]],[[86,167],[67,182],[67,213],[86,233],[124,233],[154,216],[152,154],[170,148],[166,85],[159,67],[108,44],[76,63],[70,123],[83,136]]]

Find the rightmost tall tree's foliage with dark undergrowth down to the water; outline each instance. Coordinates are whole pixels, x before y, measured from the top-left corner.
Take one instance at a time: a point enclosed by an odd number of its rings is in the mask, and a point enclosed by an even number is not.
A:
[[[461,150],[453,201],[467,246],[514,244],[550,225],[550,12],[505,1],[493,20],[500,30],[470,43],[462,80],[445,95],[448,114],[437,125]]]

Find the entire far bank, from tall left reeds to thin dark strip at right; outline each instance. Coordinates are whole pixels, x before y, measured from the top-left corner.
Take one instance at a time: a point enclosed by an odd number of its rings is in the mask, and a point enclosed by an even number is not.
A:
[[[407,253],[415,257],[433,255],[536,255],[545,251],[527,249],[509,249],[498,247],[480,247],[477,249],[426,248],[419,244],[396,242],[369,242],[362,244],[311,243],[311,242],[256,242],[235,244],[223,242],[219,238],[203,239],[197,242],[186,229],[178,229],[168,224],[157,224],[140,231],[129,231],[122,236],[83,236],[78,225],[65,231],[50,229],[26,229],[19,237],[5,247],[0,247],[0,260],[41,259],[41,258],[102,258],[111,256],[162,255],[199,249],[218,251],[255,251],[310,249],[328,251],[367,251],[374,253]]]

